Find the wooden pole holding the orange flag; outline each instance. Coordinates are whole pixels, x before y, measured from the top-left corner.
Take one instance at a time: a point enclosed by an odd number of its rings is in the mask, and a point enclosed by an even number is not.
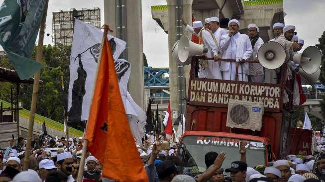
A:
[[[108,30],[110,32],[112,32],[108,25],[103,25],[104,28],[104,34],[103,34],[103,38],[102,38],[102,44],[101,44],[101,51],[100,51],[100,56],[99,56],[99,62],[98,62],[98,66],[100,65],[100,61],[102,59],[102,52],[103,52],[103,47],[104,47],[104,41],[105,38],[107,37],[108,34]],[[97,79],[95,79],[96,81]],[[96,85],[96,84],[95,84]],[[95,85],[94,85],[94,89],[95,89]],[[88,122],[87,122],[88,123]],[[84,132],[87,131],[87,124],[86,124],[86,130]],[[86,152],[87,152],[87,146],[88,146],[88,140],[84,139],[83,141],[83,152],[81,154],[81,160],[80,160],[80,164],[79,164],[79,171],[78,171],[78,177],[77,177],[77,182],[82,182],[83,176],[84,176],[84,170],[85,170],[85,158],[86,158]]]

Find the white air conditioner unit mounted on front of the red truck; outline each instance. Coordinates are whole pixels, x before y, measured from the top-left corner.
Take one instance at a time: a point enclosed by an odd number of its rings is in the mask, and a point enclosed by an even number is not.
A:
[[[263,103],[229,99],[226,126],[260,131]]]

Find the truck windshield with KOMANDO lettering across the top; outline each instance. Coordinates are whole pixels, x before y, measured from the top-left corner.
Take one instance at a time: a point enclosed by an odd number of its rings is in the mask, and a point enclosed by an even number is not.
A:
[[[231,162],[240,161],[239,142],[246,147],[246,162],[248,167],[265,165],[265,144],[259,141],[249,141],[236,138],[217,136],[185,136],[178,148],[178,157],[184,163],[184,171],[196,176],[206,170],[205,155],[208,152],[222,151],[226,153],[222,168],[230,167]]]

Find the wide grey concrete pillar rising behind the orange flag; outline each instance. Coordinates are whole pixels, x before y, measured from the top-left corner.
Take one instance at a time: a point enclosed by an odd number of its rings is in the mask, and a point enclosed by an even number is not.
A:
[[[141,0],[123,0],[126,13],[126,60],[131,64],[131,75],[128,81],[128,91],[134,101],[145,110],[144,85],[143,85],[143,45],[142,45],[142,8]],[[104,0],[104,19],[114,32],[111,34],[120,38],[117,33],[118,22],[116,19],[117,4],[115,0]],[[125,12],[125,11],[124,11]],[[117,16],[117,17],[116,17]]]

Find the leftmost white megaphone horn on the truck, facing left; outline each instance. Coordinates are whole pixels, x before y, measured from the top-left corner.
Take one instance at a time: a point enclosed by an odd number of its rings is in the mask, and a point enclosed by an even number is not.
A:
[[[186,35],[183,35],[177,41],[172,50],[174,61],[179,65],[189,65],[192,61],[192,56],[207,53],[208,49],[203,45],[192,42]]]

